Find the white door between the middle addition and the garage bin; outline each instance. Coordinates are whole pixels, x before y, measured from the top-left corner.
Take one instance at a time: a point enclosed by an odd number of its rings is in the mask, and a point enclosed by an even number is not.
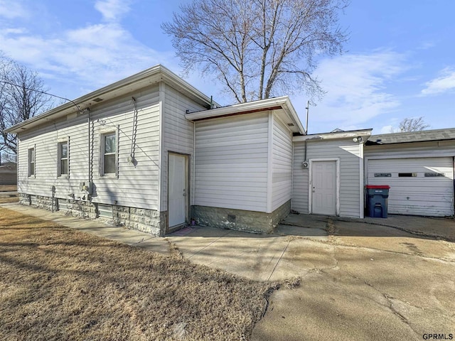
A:
[[[311,163],[311,213],[336,215],[336,161]]]

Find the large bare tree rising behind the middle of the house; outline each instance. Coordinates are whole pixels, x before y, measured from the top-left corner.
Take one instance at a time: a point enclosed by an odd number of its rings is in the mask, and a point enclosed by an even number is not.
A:
[[[161,28],[185,72],[201,67],[237,102],[303,88],[323,90],[312,75],[322,55],[343,52],[338,13],[348,0],[194,0]]]

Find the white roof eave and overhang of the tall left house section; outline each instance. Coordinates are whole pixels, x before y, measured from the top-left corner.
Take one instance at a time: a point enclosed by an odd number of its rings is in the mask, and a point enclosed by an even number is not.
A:
[[[202,92],[193,87],[181,77],[178,77],[175,73],[168,70],[163,65],[155,65],[144,71],[141,71],[135,75],[114,82],[106,87],[85,94],[82,97],[74,99],[72,102],[65,103],[54,109],[50,109],[41,115],[27,119],[11,128],[6,129],[8,133],[18,133],[31,129],[34,126],[41,125],[46,121],[53,121],[59,117],[65,117],[68,114],[74,114],[77,112],[83,112],[85,109],[92,107],[92,105],[98,104],[99,102],[105,102],[109,99],[128,94],[144,87],[154,85],[159,82],[165,82],[171,85],[176,90],[186,94],[191,99],[202,104],[203,106],[210,107],[210,104],[219,107],[219,104],[211,102],[210,98],[205,96]],[[76,107],[77,105],[77,107]]]

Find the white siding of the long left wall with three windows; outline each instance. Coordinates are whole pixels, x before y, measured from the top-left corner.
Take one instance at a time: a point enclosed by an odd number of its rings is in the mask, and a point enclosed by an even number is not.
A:
[[[127,161],[133,134],[132,97],[137,99],[136,165]],[[157,210],[159,201],[159,92],[154,86],[131,96],[92,107],[92,180],[93,202]],[[118,178],[100,175],[100,134],[119,128]],[[83,195],[79,183],[88,181],[87,115],[51,126],[21,133],[19,144],[19,192],[68,198]],[[69,137],[70,178],[57,177],[58,139]],[[28,178],[27,149],[36,146],[36,178]]]

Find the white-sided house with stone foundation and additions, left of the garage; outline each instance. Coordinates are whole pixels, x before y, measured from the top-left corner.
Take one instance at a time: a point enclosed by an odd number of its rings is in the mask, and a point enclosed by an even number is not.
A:
[[[220,107],[162,65],[8,131],[23,205],[159,236],[364,215],[371,129],[307,135],[289,97]]]

